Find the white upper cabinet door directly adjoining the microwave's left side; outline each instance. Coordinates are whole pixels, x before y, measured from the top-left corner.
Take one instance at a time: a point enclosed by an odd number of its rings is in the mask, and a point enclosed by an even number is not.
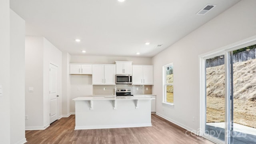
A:
[[[104,82],[105,84],[116,84],[116,65],[105,65],[105,77]]]

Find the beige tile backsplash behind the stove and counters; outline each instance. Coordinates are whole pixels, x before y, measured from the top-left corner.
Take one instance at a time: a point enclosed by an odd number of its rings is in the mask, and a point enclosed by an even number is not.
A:
[[[116,84],[116,85],[93,85],[93,95],[112,95],[117,89],[130,89],[132,94],[152,94],[151,85],[131,85],[131,84]],[[104,90],[105,88],[105,90]],[[138,88],[138,90],[137,90]],[[148,90],[146,90],[148,88]]]

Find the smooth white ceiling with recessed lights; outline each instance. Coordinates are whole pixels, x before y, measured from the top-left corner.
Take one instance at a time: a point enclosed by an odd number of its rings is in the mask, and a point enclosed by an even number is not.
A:
[[[10,0],[10,8],[26,20],[27,36],[44,36],[71,55],[150,58],[239,1]],[[217,6],[196,15],[206,4]]]

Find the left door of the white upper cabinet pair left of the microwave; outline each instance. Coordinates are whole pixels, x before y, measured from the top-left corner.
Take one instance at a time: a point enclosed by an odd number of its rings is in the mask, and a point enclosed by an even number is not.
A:
[[[92,65],[92,84],[104,84],[104,65]]]

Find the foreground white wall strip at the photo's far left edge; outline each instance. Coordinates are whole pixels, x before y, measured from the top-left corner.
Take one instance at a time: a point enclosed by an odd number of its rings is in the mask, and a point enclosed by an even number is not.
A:
[[[10,143],[10,5],[9,0],[0,0],[0,140]]]

